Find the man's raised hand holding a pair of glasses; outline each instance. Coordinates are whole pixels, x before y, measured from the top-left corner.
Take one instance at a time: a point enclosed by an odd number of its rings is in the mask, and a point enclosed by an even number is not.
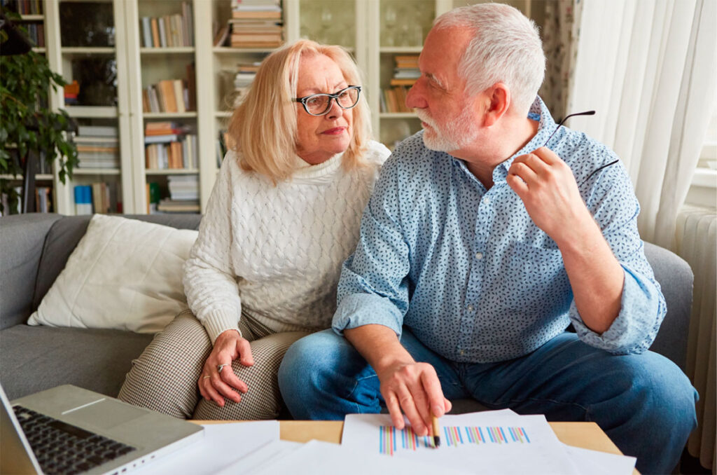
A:
[[[516,157],[505,181],[536,226],[559,245],[573,240],[576,230],[594,226],[570,167],[550,149]]]

